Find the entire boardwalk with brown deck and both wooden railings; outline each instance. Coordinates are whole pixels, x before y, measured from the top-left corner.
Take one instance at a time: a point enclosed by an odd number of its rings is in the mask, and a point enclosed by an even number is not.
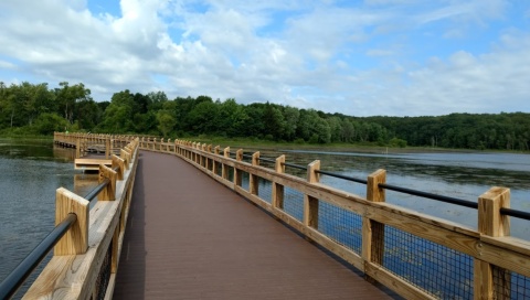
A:
[[[360,179],[319,160],[98,138],[123,142],[86,199],[57,190],[62,235],[43,242],[54,257],[23,299],[530,299],[530,242],[510,236],[510,217],[530,214],[510,208],[509,189],[473,202],[392,185],[385,170]],[[478,229],[386,203],[385,190],[476,208]],[[32,270],[19,267],[0,299]]]

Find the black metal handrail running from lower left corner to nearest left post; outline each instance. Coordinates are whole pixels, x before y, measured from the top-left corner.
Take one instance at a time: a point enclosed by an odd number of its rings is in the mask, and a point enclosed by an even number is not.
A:
[[[28,277],[36,269],[61,237],[77,219],[77,215],[70,213],[39,244],[22,262],[11,271],[0,283],[0,299],[11,299],[22,287]]]

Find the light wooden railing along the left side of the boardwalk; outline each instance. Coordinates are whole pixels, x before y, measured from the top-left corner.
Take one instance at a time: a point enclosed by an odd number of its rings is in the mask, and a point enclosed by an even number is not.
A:
[[[76,139],[92,137],[56,133],[56,138],[75,143]],[[63,188],[57,190],[56,223],[71,213],[77,215],[77,221],[55,246],[53,258],[23,299],[112,299],[138,165],[138,138],[128,138],[120,157],[112,156],[112,168],[99,165],[99,183],[109,182],[98,192],[92,210],[86,199]]]

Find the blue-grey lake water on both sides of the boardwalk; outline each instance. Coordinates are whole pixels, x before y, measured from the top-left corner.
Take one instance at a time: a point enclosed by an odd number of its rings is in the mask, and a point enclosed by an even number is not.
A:
[[[243,147],[244,148],[244,147]],[[233,147],[232,149],[237,149]],[[321,169],[338,172],[349,176],[365,179],[378,169],[386,170],[386,182],[403,188],[416,189],[425,192],[477,201],[478,196],[491,186],[507,186],[511,189],[511,207],[530,211],[530,156],[516,153],[492,152],[400,152],[382,154],[381,149],[306,149],[304,151],[286,148],[245,148],[245,153],[261,151],[262,158],[276,158],[285,154],[286,161],[307,165],[314,160],[321,161]],[[398,151],[398,150],[396,150]],[[74,151],[60,148],[51,140],[19,140],[0,139],[0,280],[2,280],[54,226],[55,190],[60,186],[74,191],[77,194],[87,194],[96,184],[96,174],[83,174],[74,170]],[[264,167],[272,167],[262,162]],[[287,168],[287,172],[305,178],[305,172]],[[365,185],[344,180],[321,175],[321,182],[365,196]],[[247,185],[244,178],[243,185]],[[271,183],[261,181],[259,195],[271,197]],[[301,218],[303,195],[286,189],[285,211],[297,218]],[[386,202],[402,205],[425,214],[443,217],[477,227],[475,210],[457,205],[441,203],[433,200],[410,196],[398,192],[386,191]],[[331,205],[320,206],[319,231],[325,232],[353,250],[359,247],[360,226],[359,216],[339,212]],[[520,238],[529,238],[530,222],[511,218],[511,233]],[[347,235],[348,234],[348,235]],[[396,246],[385,253],[385,267],[389,269],[411,268],[410,261],[420,268],[422,264],[431,264],[431,269],[444,277],[454,275],[453,268],[442,268],[447,259],[459,265],[468,265],[469,257],[454,256],[447,250],[425,246],[413,236],[401,236],[401,233],[388,229],[385,243]],[[406,242],[406,245],[398,245]],[[417,244],[417,245],[416,245]],[[412,246],[411,246],[412,245]],[[415,245],[415,246],[414,246]],[[423,247],[423,248],[422,248]],[[409,257],[403,261],[403,251],[420,249],[423,256]],[[401,251],[401,260],[393,260]],[[432,253],[444,253],[445,258],[433,258]],[[398,257],[398,256],[395,256]],[[447,258],[448,257],[448,258]],[[46,260],[49,260],[46,258]],[[410,261],[409,261],[410,260]],[[41,265],[40,269],[45,265]],[[469,266],[467,266],[469,267]],[[473,265],[471,265],[473,268]],[[469,268],[468,268],[469,269]],[[38,270],[39,272],[40,270]],[[394,270],[399,274],[399,270]],[[35,272],[24,288],[36,278]],[[471,272],[473,274],[473,272]],[[445,276],[449,275],[449,276]],[[462,277],[454,277],[455,283],[463,281],[458,297],[466,299],[470,286],[469,271]],[[413,279],[411,279],[413,280]],[[422,280],[421,278],[418,280]],[[414,281],[414,280],[413,280]],[[418,283],[420,285],[420,283]],[[428,283],[420,286],[425,287]],[[427,287],[428,288],[428,287]],[[451,297],[454,297],[451,296]]]

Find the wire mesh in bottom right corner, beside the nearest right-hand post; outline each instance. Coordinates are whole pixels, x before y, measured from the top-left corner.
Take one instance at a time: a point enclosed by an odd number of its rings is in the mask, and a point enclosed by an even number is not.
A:
[[[494,275],[494,299],[530,299],[530,278],[497,266]]]

